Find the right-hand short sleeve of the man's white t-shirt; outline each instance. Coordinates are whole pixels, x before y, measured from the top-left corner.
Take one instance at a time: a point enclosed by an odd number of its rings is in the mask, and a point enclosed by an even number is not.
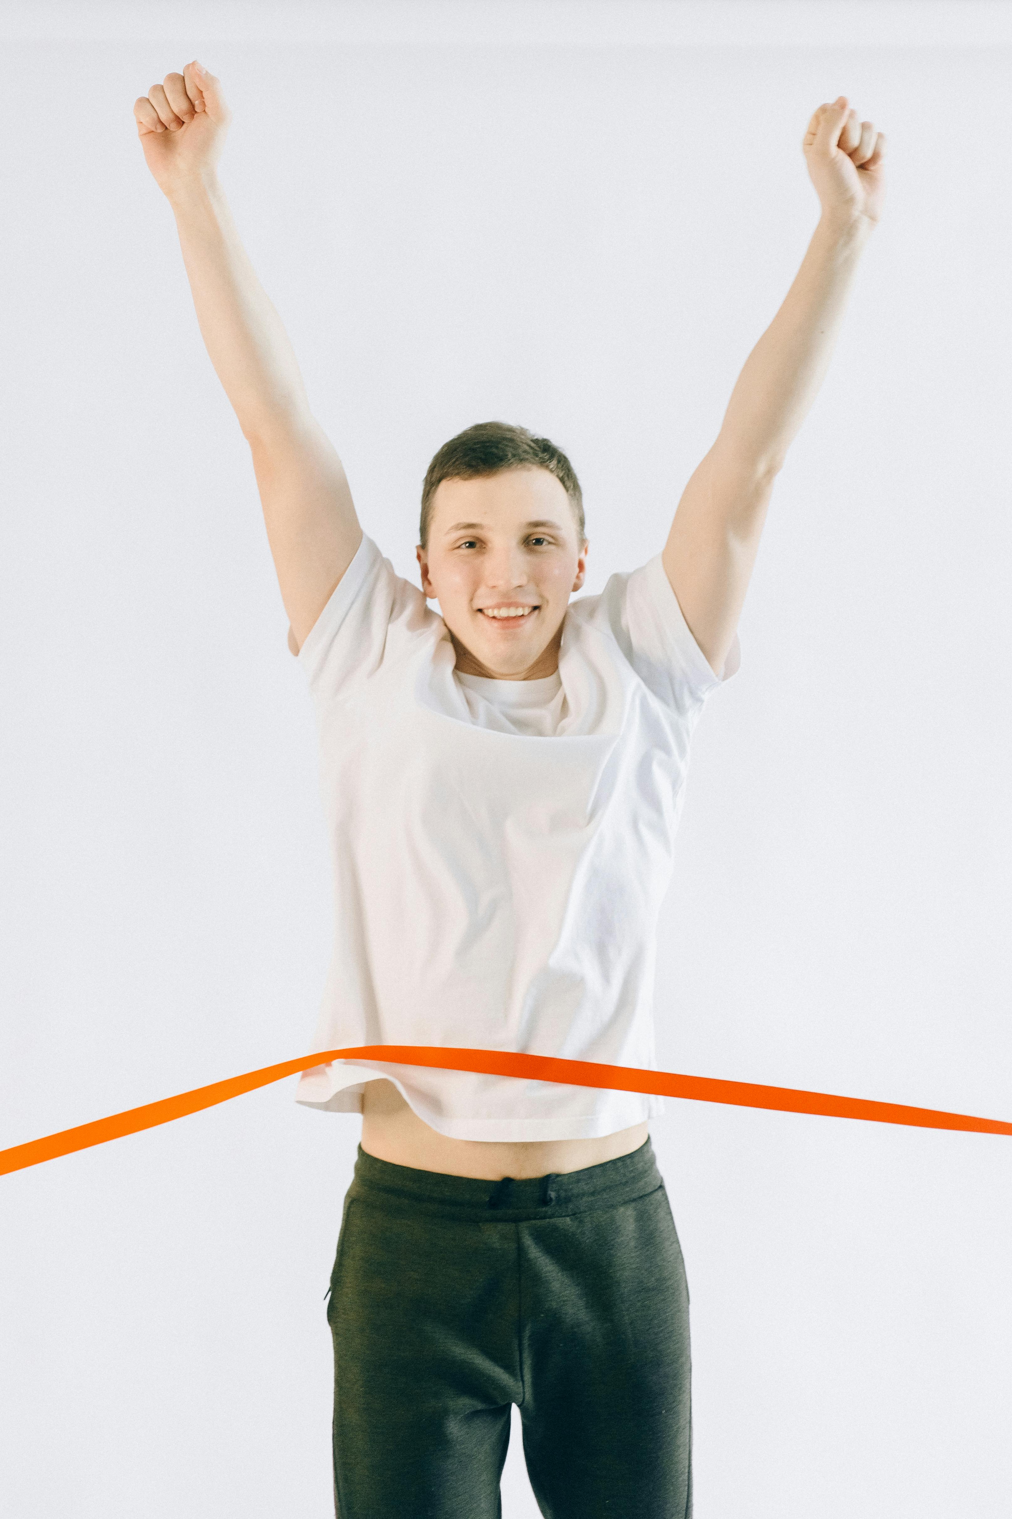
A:
[[[604,615],[625,658],[652,694],[675,711],[698,711],[740,665],[737,633],[718,674],[678,606],[662,556],[610,577],[596,615]],[[596,620],[596,618],[595,618]]]

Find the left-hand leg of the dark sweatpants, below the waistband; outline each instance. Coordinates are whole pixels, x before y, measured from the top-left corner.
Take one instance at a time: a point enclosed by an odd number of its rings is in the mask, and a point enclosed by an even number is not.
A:
[[[340,1519],[499,1519],[513,1230],[350,1197],[331,1277]]]

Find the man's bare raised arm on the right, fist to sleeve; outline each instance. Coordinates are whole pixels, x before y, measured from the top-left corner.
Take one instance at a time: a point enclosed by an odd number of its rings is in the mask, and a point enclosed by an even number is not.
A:
[[[803,141],[822,214],[787,296],[748,355],[719,436],[678,503],[663,565],[715,671],[734,643],[774,480],[828,369],[883,197],[885,137],[845,96]]]

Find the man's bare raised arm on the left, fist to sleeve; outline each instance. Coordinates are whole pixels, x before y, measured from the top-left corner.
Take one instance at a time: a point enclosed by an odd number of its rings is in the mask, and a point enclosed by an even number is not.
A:
[[[200,334],[247,439],[297,653],[363,536],[347,478],[310,410],[294,351],[246,257],[217,164],[231,112],[197,62],[134,105],[179,231]]]

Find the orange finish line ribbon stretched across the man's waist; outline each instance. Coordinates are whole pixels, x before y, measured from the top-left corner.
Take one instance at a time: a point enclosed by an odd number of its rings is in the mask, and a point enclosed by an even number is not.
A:
[[[561,1060],[548,1054],[514,1054],[501,1050],[457,1050],[440,1045],[357,1045],[349,1050],[319,1050],[300,1060],[266,1065],[246,1075],[197,1086],[193,1092],[164,1097],[159,1103],[130,1107],[111,1118],[62,1129],[44,1139],[0,1150],[0,1176],[21,1171],[59,1154],[88,1150],[91,1145],[120,1139],[123,1135],[155,1129],[173,1118],[199,1113],[203,1107],[226,1103],[258,1086],[281,1082],[296,1071],[310,1071],[331,1060],[384,1060],[393,1065],[428,1065],[440,1071],[476,1071],[482,1075],[511,1075],[528,1082],[558,1082],[563,1086],[602,1086],[616,1092],[649,1092],[657,1097],[683,1097],[696,1103],[731,1103],[734,1107],[771,1107],[781,1113],[818,1113],[825,1118],[865,1118],[875,1124],[910,1124],[918,1129],[963,1129],[982,1135],[1012,1135],[1012,1124],[997,1118],[971,1118],[944,1113],[935,1107],[907,1107],[901,1103],[874,1103],[863,1097],[833,1097],[828,1092],[801,1092],[790,1086],[757,1086],[753,1082],[721,1082],[709,1075],[677,1075],[674,1071],[643,1071],[628,1065],[601,1065],[598,1060]]]

